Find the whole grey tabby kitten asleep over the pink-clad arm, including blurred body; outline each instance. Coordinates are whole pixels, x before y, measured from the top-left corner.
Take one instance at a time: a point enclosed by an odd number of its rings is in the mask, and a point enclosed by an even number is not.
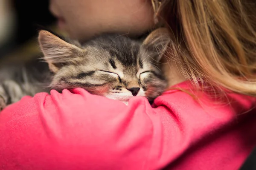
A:
[[[44,30],[38,40],[46,62],[37,59],[0,69],[0,109],[25,95],[71,88],[84,88],[125,104],[133,96],[145,96],[151,102],[167,86],[158,68],[170,41],[164,28],[144,41],[103,34],[79,43]]]

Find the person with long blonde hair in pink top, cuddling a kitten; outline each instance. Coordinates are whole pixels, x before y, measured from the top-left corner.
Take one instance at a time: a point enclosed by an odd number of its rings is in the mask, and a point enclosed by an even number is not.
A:
[[[152,105],[81,88],[25,96],[0,114],[0,169],[241,167],[256,145],[254,1],[51,0],[50,9],[81,40],[168,28],[169,88]]]

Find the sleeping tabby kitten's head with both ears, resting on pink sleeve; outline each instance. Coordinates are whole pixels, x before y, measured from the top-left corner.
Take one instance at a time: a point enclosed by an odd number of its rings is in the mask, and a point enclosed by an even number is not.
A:
[[[91,94],[127,102],[133,96],[146,96],[151,101],[166,88],[166,79],[158,68],[170,41],[163,28],[143,42],[105,34],[79,43],[62,40],[48,31],[40,31],[38,39],[53,72],[50,86],[55,90],[80,87]]]

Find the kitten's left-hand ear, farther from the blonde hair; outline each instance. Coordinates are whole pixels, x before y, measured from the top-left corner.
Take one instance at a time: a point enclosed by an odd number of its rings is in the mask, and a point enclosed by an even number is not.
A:
[[[76,45],[70,44],[45,30],[39,32],[38,41],[44,54],[44,60],[53,72],[57,72],[63,65],[75,62],[83,51]]]

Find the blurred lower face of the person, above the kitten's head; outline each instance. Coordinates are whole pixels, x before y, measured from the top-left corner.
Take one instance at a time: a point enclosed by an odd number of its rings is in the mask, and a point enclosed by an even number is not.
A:
[[[103,32],[137,35],[154,26],[150,0],[50,0],[58,26],[73,38]]]

